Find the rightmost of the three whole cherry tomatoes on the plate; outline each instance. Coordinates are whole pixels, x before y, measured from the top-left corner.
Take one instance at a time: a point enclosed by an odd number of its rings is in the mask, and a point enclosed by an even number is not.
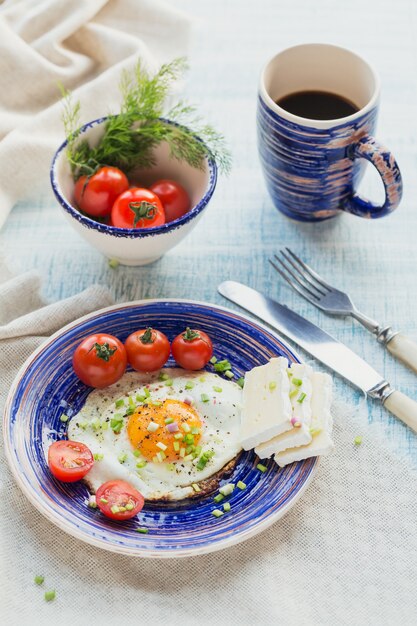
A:
[[[172,356],[184,369],[201,370],[213,356],[211,339],[202,330],[187,328],[171,346]]]

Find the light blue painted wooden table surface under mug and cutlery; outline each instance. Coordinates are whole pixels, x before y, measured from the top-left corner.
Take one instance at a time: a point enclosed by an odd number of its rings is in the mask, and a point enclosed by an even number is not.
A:
[[[287,245],[332,282],[350,291],[368,315],[417,338],[417,146],[415,37],[412,0],[171,0],[201,18],[191,53],[187,96],[225,134],[233,172],[221,178],[203,220],[176,249],[143,268],[109,269],[107,260],[78,238],[50,195],[13,210],[0,233],[0,249],[16,270],[37,268],[45,295],[55,300],[99,283],[117,301],[192,298],[218,304],[224,279],[247,283],[292,307],[351,346],[396,387],[417,397],[417,377],[396,362],[354,321],[325,317],[290,291],[268,264]],[[260,69],[278,50],[305,41],[354,49],[382,81],[378,138],[396,155],[405,193],[400,209],[380,221],[343,215],[306,225],[272,206],[256,149],[255,106]],[[378,178],[363,191],[381,197]],[[360,394],[337,380],[348,403]],[[416,436],[369,402],[368,419],[381,423],[388,440],[417,466]]]

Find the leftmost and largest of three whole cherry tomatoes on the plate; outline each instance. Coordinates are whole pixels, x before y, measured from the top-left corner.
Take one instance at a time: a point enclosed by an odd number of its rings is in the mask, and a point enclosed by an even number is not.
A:
[[[126,350],[113,335],[90,335],[76,348],[72,365],[78,378],[86,385],[107,387],[125,373]]]

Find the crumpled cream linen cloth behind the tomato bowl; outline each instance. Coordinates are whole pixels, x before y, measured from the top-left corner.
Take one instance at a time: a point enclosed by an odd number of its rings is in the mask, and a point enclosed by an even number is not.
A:
[[[160,0],[11,0],[0,6],[0,228],[14,204],[49,191],[64,140],[61,82],[82,122],[118,111],[123,69],[187,52],[191,22]]]

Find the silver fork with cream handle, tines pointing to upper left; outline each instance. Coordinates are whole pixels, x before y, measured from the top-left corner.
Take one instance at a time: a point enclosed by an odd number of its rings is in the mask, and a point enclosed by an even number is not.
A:
[[[390,326],[381,326],[364,315],[353,304],[348,293],[329,285],[307,263],[289,248],[269,259],[272,267],[303,298],[330,315],[350,315],[370,330],[379,343],[417,373],[417,344],[405,335],[394,332]]]

